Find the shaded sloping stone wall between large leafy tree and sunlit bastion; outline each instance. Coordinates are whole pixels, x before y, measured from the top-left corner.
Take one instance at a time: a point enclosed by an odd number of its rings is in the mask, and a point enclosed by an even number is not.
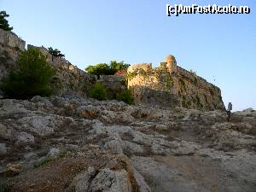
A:
[[[125,90],[126,86],[123,84],[123,77],[115,75],[101,75],[100,79],[96,78],[96,75],[85,73],[79,67],[72,65],[65,58],[54,57],[49,54],[48,49],[42,47],[35,47],[33,45],[27,45],[27,48],[36,48],[45,55],[47,61],[51,63],[57,70],[55,75],[55,94],[56,95],[79,95],[87,96],[92,84],[101,82],[108,89],[108,95],[110,99],[113,99],[121,90]],[[57,81],[57,82],[56,82]]]

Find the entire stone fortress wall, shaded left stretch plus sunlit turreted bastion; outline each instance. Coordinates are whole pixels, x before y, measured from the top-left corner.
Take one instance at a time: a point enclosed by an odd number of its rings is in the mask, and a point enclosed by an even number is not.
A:
[[[25,46],[26,42],[14,32],[0,29],[0,80],[8,73],[9,68],[15,67],[15,61]],[[117,92],[126,89],[124,77],[102,75],[100,79],[96,79],[95,75],[85,73],[65,58],[53,57],[44,47],[27,47],[40,49],[47,61],[55,67],[56,74],[52,84],[57,96],[87,96],[91,85],[96,81],[107,86],[110,99]],[[224,109],[218,87],[178,67],[172,55],[160,62],[159,67],[153,68],[151,63],[141,63],[129,67],[127,73],[128,88],[133,91],[136,103],[203,110]]]

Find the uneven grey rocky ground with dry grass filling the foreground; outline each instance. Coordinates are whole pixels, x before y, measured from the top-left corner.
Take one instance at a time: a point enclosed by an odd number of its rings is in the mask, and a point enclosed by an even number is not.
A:
[[[0,191],[253,192],[256,112],[0,100]]]

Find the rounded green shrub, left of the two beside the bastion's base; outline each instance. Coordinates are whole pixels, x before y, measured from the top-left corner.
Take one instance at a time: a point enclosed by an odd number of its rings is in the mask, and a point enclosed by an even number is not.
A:
[[[89,96],[100,101],[106,100],[108,99],[108,90],[102,83],[96,82],[96,84],[90,88]]]

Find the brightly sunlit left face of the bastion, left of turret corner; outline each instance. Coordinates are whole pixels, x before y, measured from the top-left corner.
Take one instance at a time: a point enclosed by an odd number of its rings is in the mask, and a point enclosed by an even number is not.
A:
[[[141,63],[127,70],[128,88],[132,90],[136,103],[160,105],[165,107],[180,106],[180,101],[172,86],[171,73],[166,65],[152,68],[151,63]]]

